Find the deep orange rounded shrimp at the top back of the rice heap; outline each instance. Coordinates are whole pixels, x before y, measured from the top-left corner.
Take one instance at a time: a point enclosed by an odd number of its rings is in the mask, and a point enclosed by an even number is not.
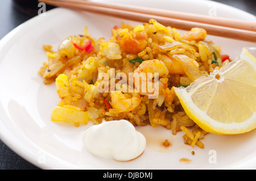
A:
[[[121,47],[128,53],[138,54],[147,46],[147,34],[145,32],[125,33],[121,39]]]

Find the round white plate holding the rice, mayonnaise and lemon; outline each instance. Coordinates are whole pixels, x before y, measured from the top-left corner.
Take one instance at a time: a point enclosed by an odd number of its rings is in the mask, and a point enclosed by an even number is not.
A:
[[[211,1],[129,2],[201,14],[214,12],[217,16],[256,21],[255,16],[247,12]],[[208,134],[203,140],[205,148],[200,149],[184,145],[181,133],[174,136],[161,127],[137,128],[147,138],[146,150],[133,161],[117,162],[94,157],[84,149],[81,136],[92,124],[77,128],[50,120],[51,110],[59,98],[54,83],[44,85],[38,75],[40,66],[47,59],[42,45],[51,44],[56,48],[65,37],[82,33],[85,26],[94,37],[108,39],[112,27],[122,21],[125,20],[54,9],[46,16],[28,20],[5,36],[0,41],[1,140],[42,169],[256,169],[255,131],[236,136]],[[220,44],[222,52],[232,58],[238,56],[242,47],[255,47],[254,43],[246,41],[209,38]],[[170,140],[172,146],[169,149],[161,148],[160,140],[164,139]],[[191,154],[192,150],[195,155]],[[180,158],[192,162],[185,164],[179,161]]]

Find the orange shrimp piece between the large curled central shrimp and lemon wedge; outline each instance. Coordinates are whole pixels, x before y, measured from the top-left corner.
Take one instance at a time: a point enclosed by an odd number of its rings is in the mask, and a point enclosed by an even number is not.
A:
[[[168,56],[161,56],[160,60],[166,65],[169,74],[185,74],[184,68],[179,61]]]

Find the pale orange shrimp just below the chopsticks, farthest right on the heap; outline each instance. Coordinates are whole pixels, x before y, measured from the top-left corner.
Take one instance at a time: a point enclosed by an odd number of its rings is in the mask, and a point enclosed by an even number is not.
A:
[[[201,41],[207,37],[207,31],[203,28],[192,28],[190,31],[186,32],[182,39],[187,41]]]

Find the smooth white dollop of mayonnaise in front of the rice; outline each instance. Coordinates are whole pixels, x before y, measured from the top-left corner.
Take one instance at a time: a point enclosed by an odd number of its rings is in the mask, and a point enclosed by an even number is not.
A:
[[[82,141],[90,153],[117,161],[137,158],[146,148],[146,138],[127,120],[93,125],[85,131]]]

